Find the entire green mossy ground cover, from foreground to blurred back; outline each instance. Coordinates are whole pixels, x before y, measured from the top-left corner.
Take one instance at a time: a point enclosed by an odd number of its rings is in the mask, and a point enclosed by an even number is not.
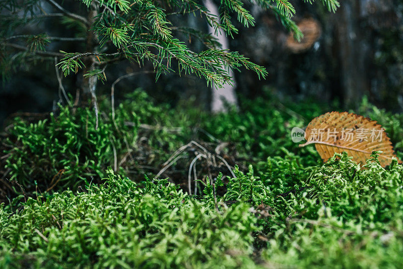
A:
[[[327,109],[267,93],[212,116],[137,91],[114,119],[105,99],[98,129],[86,108],[15,119],[0,267],[401,267],[402,166],[383,168],[376,153],[366,169],[345,154],[323,164],[291,141]],[[403,115],[365,100],[355,112],[402,157]],[[166,161],[167,179],[155,178]]]

